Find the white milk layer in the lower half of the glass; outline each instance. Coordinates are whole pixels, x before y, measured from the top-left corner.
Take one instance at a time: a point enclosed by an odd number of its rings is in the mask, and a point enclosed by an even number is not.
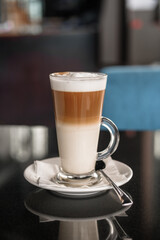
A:
[[[56,123],[61,166],[65,172],[84,174],[95,168],[100,124]]]

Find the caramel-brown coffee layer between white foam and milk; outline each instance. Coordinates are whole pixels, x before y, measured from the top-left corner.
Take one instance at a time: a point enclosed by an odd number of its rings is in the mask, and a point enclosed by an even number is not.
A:
[[[53,90],[56,121],[91,124],[100,121],[105,90],[61,92]]]

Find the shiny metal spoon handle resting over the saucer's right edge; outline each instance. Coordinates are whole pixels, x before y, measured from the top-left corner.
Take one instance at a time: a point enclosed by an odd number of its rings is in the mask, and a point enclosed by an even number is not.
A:
[[[117,194],[123,206],[129,206],[133,204],[132,199],[121,188],[119,188],[103,170],[99,171],[103,174],[103,176],[107,179],[109,184],[113,187],[115,193]]]

